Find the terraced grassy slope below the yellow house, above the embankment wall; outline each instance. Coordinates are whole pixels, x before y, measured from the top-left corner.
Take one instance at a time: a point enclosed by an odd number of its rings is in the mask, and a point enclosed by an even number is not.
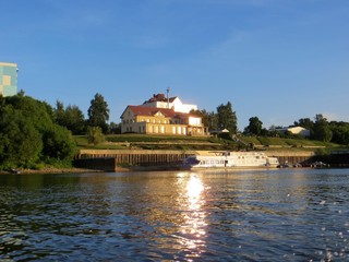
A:
[[[87,143],[86,136],[75,136],[79,148],[94,150],[237,150],[244,148],[241,143],[215,138],[202,136],[166,136],[166,135],[144,135],[144,134],[116,134],[107,135],[106,142],[99,145]],[[269,150],[291,150],[291,151],[314,151],[316,147],[328,150],[338,148],[339,145],[324,143],[305,139],[280,139],[280,138],[257,138],[241,136],[245,144],[254,144],[256,147]]]

